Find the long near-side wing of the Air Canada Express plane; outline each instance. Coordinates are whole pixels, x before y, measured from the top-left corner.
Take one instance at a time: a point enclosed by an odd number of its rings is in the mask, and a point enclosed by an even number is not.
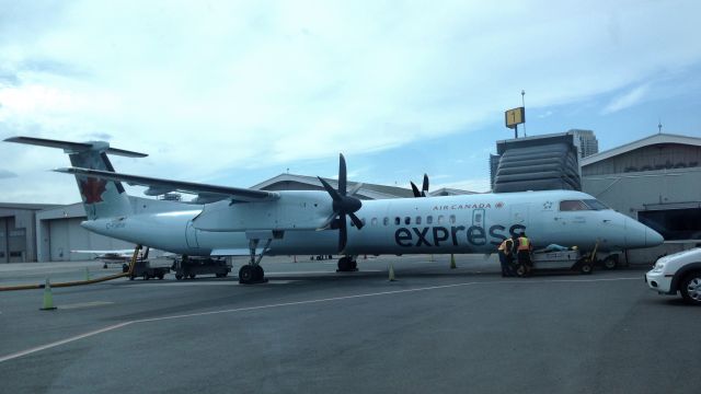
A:
[[[170,192],[196,194],[198,195],[197,202],[214,202],[228,198],[237,201],[256,202],[273,201],[280,197],[276,192],[207,185],[194,182],[171,181],[140,175],[120,174],[110,171],[89,170],[80,167],[57,169],[54,171],[66,174],[92,176],[107,181],[126,182],[129,185],[148,186],[149,188],[145,192],[145,194],[150,196],[158,196]]]

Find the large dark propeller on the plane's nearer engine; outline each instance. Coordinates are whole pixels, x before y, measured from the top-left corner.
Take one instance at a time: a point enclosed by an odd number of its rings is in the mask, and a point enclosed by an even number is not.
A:
[[[357,197],[353,197],[353,194],[359,189],[359,186],[356,185],[352,193],[348,194],[346,190],[346,160],[343,154],[340,155],[338,162],[338,190],[334,189],[329,183],[321,177],[319,181],[324,186],[331,198],[333,199],[333,213],[324,221],[324,224],[319,228],[319,230],[324,230],[327,228],[338,229],[338,251],[343,253],[346,248],[346,243],[348,242],[348,234],[346,229],[346,216],[350,218],[353,223],[358,230],[363,229],[363,221],[354,213],[357,212],[358,209],[363,206],[360,199]]]

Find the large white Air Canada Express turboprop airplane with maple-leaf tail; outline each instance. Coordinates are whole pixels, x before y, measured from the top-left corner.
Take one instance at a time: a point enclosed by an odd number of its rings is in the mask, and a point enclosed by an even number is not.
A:
[[[355,256],[494,253],[503,240],[528,231],[535,247],[577,245],[599,251],[659,245],[664,239],[593,196],[575,190],[518,192],[360,200],[346,187],[340,155],[337,189],[267,192],[116,173],[107,154],[147,154],[104,141],[67,142],[12,137],[8,142],[64,149],[95,233],[188,256],[250,256],[241,283],[266,281],[264,255],[336,254],[338,270]],[[197,195],[192,201],[128,196],[122,183]],[[427,189],[427,182],[426,187]]]

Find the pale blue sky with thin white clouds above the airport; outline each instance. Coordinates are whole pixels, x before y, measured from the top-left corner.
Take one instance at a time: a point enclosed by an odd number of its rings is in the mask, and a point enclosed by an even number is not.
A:
[[[0,139],[149,153],[117,172],[486,192],[513,138],[701,138],[698,1],[0,0]],[[521,91],[525,95],[521,95]],[[519,128],[522,131],[522,128]],[[80,201],[61,151],[0,142],[0,201]],[[142,188],[130,188],[140,194]]]

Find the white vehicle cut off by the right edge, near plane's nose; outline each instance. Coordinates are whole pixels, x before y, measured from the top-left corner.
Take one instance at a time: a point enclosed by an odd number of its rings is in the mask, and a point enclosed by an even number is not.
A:
[[[660,294],[679,291],[686,302],[701,305],[701,247],[659,257],[645,282]]]

